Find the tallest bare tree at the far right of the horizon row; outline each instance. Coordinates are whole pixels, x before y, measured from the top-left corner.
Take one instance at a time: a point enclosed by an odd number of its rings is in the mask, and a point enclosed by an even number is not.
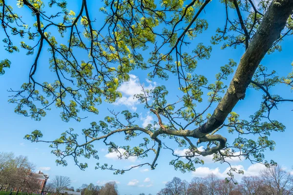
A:
[[[270,195],[293,194],[293,176],[279,165],[261,171],[260,175],[265,187],[269,189]]]

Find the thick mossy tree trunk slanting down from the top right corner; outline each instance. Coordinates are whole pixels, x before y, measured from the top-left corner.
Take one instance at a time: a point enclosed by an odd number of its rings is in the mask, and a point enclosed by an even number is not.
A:
[[[293,0],[273,0],[248,49],[242,56],[230,86],[209,120],[196,128],[194,137],[203,137],[222,125],[236,103],[245,97],[251,78],[274,41],[280,37],[293,11]]]

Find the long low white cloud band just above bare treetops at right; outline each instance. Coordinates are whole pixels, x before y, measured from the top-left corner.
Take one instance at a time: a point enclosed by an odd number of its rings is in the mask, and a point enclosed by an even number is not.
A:
[[[251,166],[248,167],[247,170],[244,169],[243,165],[235,165],[232,166],[233,168],[236,168],[237,170],[242,170],[244,171],[244,175],[242,174],[234,174],[234,177],[236,179],[240,179],[242,176],[257,176],[259,175],[259,172],[263,169],[265,169],[265,166],[263,164],[252,164]],[[195,172],[192,172],[192,176],[197,176],[197,177],[206,177],[209,174],[214,174],[220,178],[225,178],[227,177],[227,173],[229,172],[230,167],[228,167],[225,171],[221,172],[220,168],[217,167],[215,169],[210,169],[209,167],[198,167],[196,168]]]

